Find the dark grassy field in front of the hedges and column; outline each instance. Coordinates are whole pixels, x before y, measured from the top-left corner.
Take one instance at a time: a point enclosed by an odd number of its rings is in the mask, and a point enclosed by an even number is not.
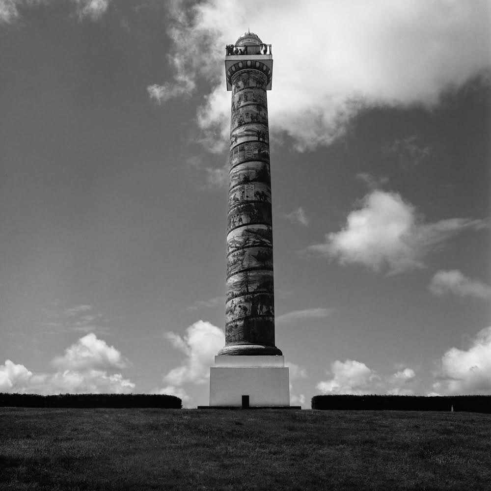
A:
[[[491,417],[0,408],[0,489],[491,490]]]

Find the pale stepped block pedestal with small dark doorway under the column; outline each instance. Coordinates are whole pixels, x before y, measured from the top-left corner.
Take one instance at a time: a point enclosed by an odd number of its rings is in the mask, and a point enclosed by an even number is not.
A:
[[[215,356],[210,368],[210,406],[290,406],[284,356]]]

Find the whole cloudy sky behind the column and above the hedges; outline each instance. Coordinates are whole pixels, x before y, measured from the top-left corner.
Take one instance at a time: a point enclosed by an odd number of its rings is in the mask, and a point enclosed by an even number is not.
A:
[[[490,27],[484,0],[0,0],[0,392],[208,404],[250,29],[292,404],[491,394]]]

